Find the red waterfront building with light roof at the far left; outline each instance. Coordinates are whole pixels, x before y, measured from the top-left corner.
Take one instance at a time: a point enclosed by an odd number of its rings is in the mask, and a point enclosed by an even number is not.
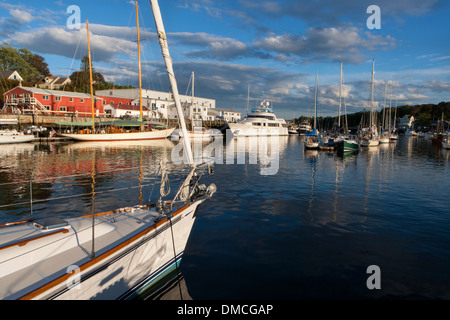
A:
[[[103,99],[94,96],[94,113],[103,115]],[[91,95],[79,92],[15,87],[4,94],[2,110],[52,115],[92,115]]]

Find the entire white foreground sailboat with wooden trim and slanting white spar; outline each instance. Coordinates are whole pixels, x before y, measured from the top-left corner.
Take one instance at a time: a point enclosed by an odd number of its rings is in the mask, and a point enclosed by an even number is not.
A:
[[[183,118],[166,33],[151,0],[177,113]],[[189,137],[183,141],[189,173],[172,200],[164,163],[157,203],[70,219],[29,219],[0,226],[1,299],[127,299],[171,270],[180,259],[199,205],[216,186],[199,183]],[[92,207],[93,208],[93,207]]]

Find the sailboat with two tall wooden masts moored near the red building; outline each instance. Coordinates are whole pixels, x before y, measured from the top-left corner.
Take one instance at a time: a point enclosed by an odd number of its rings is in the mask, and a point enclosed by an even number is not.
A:
[[[138,43],[138,64],[139,64],[139,109],[140,119],[137,121],[130,120],[113,120],[102,122],[101,124],[106,126],[105,128],[95,128],[94,119],[94,94],[92,87],[92,61],[91,61],[91,49],[89,42],[89,23],[86,20],[87,30],[87,42],[88,42],[88,58],[89,58],[89,82],[91,91],[91,109],[92,119],[90,121],[92,125],[91,130],[79,130],[78,133],[59,133],[58,135],[78,140],[78,141],[123,141],[123,140],[154,140],[165,139],[169,137],[175,128],[150,128],[149,125],[145,126],[142,111],[142,73],[141,73],[141,47],[139,36],[139,9],[138,3],[136,3],[136,20],[137,20],[137,43]],[[56,122],[58,124],[58,122]],[[67,125],[67,123],[62,123]],[[71,125],[79,126],[79,124],[71,123]]]

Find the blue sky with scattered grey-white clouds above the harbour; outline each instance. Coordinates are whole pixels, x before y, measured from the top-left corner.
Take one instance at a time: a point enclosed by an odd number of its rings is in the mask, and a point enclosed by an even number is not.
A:
[[[159,2],[179,92],[191,94],[194,72],[195,95],[217,108],[245,114],[267,100],[286,119],[311,116],[314,105],[319,116],[336,116],[341,91],[342,112],[368,110],[373,61],[374,108],[450,101],[449,1]],[[169,91],[150,2],[138,3],[143,87]],[[95,71],[137,86],[135,1],[2,0],[0,41],[67,77],[87,54],[86,20]]]

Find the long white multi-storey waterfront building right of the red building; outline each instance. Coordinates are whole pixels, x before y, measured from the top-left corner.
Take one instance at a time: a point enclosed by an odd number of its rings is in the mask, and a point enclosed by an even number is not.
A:
[[[132,105],[139,105],[139,89],[98,90],[96,95],[132,99]],[[215,109],[216,100],[180,95],[186,119],[214,120],[208,118],[208,110]],[[168,92],[142,90],[142,105],[146,108],[144,116],[157,119],[177,119],[173,95]]]

